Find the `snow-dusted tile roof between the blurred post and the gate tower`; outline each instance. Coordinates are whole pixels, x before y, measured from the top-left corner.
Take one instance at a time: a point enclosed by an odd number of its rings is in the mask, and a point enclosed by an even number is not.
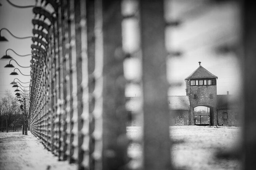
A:
[[[169,110],[189,110],[190,103],[188,96],[168,96]]]

